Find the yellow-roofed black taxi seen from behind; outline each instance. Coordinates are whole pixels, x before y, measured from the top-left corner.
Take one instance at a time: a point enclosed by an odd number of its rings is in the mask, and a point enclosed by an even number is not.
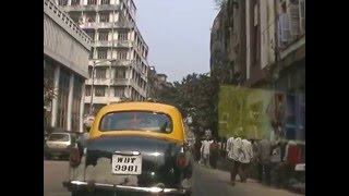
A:
[[[119,102],[99,110],[88,138],[71,148],[69,181],[81,195],[190,195],[192,162],[179,110]]]

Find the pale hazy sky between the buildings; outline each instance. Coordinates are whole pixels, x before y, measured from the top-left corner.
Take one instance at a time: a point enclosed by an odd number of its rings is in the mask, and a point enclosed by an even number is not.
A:
[[[148,63],[168,81],[209,71],[214,0],[134,0],[136,24],[149,47]]]

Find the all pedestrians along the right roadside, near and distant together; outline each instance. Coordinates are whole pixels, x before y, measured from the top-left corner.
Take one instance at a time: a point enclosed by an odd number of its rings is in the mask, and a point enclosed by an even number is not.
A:
[[[280,140],[270,142],[265,138],[256,140],[229,137],[226,143],[218,143],[216,138],[206,137],[195,140],[194,155],[196,162],[203,161],[204,166],[214,169],[217,167],[219,155],[226,157],[232,185],[236,184],[237,175],[241,182],[246,182],[252,164],[256,166],[261,183],[270,185],[273,181],[276,186],[286,186],[292,177],[296,164],[300,163],[301,149],[293,140],[284,144]]]

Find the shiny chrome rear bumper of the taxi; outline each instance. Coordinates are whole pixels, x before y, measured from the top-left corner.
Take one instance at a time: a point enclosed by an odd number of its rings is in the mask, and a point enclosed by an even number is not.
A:
[[[65,181],[63,186],[68,191],[82,191],[87,189],[93,192],[94,189],[105,189],[105,191],[122,191],[122,192],[139,192],[139,193],[164,193],[164,194],[185,194],[188,191],[185,188],[163,188],[163,187],[140,187],[140,186],[127,186],[127,185],[115,185],[115,184],[104,184],[104,183],[88,183],[84,181]]]

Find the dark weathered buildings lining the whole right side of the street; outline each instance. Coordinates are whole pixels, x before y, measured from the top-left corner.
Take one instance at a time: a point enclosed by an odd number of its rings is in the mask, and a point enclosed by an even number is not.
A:
[[[220,62],[222,72],[233,70],[230,81],[267,91],[249,101],[252,113],[269,113],[270,138],[304,142],[305,0],[227,0],[214,21],[214,45],[212,70]]]

